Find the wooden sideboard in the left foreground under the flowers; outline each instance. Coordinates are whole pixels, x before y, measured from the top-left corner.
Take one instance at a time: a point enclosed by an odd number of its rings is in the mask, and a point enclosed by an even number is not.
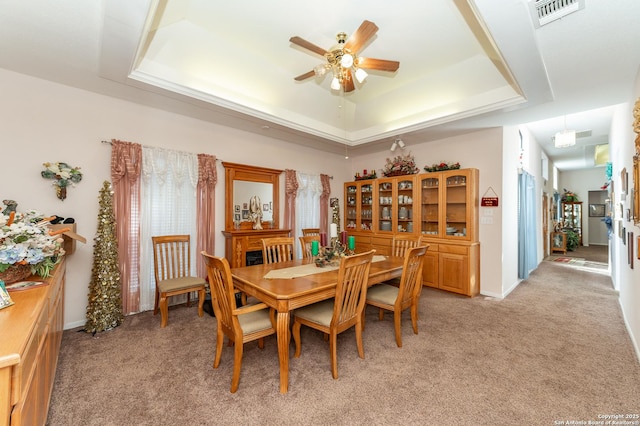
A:
[[[0,426],[44,425],[62,342],[64,260],[0,310]],[[28,280],[41,280],[30,277]]]

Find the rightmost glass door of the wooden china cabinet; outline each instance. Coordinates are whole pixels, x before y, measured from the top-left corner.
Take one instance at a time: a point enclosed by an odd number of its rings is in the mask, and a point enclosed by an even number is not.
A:
[[[447,237],[467,236],[467,176],[464,172],[444,174],[445,184],[445,233]]]

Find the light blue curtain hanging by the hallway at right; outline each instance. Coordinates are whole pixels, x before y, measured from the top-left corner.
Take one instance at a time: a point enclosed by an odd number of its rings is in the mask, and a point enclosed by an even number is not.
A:
[[[536,180],[526,171],[518,176],[518,277],[526,279],[538,266]]]

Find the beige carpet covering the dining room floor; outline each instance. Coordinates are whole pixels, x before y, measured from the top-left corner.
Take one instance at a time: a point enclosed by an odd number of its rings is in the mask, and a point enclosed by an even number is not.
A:
[[[610,278],[556,262],[505,300],[425,288],[420,334],[405,314],[402,348],[391,316],[369,308],[366,359],[352,331],[340,335],[338,380],[328,343],[304,328],[285,395],[274,337],[264,350],[245,345],[231,394],[231,347],[212,369],[214,318],[177,307],[159,324],[143,313],[95,337],[66,331],[49,424],[553,425],[640,407],[640,364]]]

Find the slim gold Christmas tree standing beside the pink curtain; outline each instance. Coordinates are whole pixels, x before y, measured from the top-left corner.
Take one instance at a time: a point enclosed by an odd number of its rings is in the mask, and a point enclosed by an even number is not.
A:
[[[98,232],[93,239],[93,267],[84,327],[84,331],[93,334],[115,328],[124,321],[113,193],[108,181],[102,184],[98,198]]]

